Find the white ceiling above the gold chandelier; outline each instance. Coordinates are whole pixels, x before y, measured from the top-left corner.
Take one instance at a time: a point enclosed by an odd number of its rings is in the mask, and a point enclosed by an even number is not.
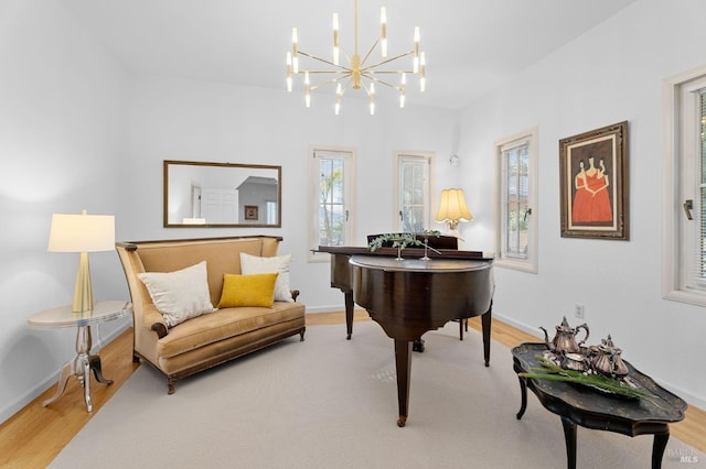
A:
[[[354,44],[354,0],[62,1],[124,65],[147,74],[284,89],[292,26],[300,50],[328,57],[338,12],[341,46],[352,53]],[[360,0],[360,52],[377,39],[386,7],[391,55],[421,31],[427,92],[410,89],[407,102],[460,108],[634,1]]]

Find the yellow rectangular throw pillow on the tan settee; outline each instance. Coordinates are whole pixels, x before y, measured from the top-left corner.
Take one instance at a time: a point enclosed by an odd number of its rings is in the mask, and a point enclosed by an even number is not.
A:
[[[271,307],[275,304],[277,275],[278,272],[253,275],[223,274],[223,292],[218,307]]]

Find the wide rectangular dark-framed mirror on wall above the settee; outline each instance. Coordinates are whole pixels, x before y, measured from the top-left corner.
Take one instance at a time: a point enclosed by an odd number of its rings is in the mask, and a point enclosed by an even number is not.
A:
[[[164,161],[165,228],[281,228],[281,166]]]

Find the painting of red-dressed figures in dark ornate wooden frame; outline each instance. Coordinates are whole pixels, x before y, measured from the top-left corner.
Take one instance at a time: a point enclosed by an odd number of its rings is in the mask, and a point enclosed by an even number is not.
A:
[[[628,121],[559,140],[561,237],[628,240]]]

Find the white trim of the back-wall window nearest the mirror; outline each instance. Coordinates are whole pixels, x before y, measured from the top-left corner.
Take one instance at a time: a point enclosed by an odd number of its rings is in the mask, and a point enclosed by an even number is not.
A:
[[[347,223],[346,223],[346,239],[353,242],[353,237],[355,234],[355,190],[356,190],[356,160],[357,160],[357,150],[352,146],[333,146],[333,145],[311,145],[309,146],[309,151],[307,153],[309,167],[308,167],[308,182],[309,182],[309,197],[308,197],[308,207],[309,207],[309,222],[308,222],[308,232],[307,232],[307,262],[330,262],[330,254],[325,252],[314,252],[315,249],[319,248],[318,236],[319,232],[319,217],[318,214],[319,207],[319,184],[318,184],[318,171],[314,176],[314,167],[317,167],[315,162],[318,159],[315,156],[317,152],[331,152],[331,153],[347,153],[350,159],[345,164],[345,173],[344,173],[344,187],[345,187],[345,200],[344,205],[349,212]]]

